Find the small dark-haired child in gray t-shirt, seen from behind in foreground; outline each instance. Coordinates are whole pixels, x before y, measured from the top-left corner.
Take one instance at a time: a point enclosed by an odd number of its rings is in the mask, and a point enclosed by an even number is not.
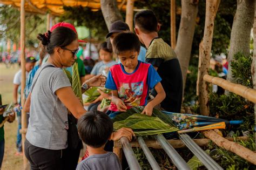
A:
[[[77,165],[84,169],[122,169],[117,155],[104,150],[111,139],[113,123],[109,116],[100,111],[87,112],[78,120],[78,133],[86,144],[90,157]]]

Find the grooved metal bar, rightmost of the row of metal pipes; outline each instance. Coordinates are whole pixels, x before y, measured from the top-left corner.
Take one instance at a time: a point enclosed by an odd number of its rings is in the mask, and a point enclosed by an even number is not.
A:
[[[187,134],[179,134],[180,140],[184,142],[190,151],[204,164],[207,169],[223,169],[207,153],[201,149]]]

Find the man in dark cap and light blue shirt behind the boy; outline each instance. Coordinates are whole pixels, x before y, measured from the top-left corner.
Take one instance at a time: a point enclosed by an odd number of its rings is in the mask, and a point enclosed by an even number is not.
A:
[[[120,32],[125,32],[125,31],[130,31],[129,26],[123,22],[123,21],[116,21],[113,22],[111,27],[110,27],[110,32],[107,33],[106,38],[110,37],[110,43],[112,44],[114,37],[118,35]],[[109,48],[112,48],[112,45]],[[138,55],[138,60],[145,62],[145,57],[146,57],[146,49],[143,46],[140,46],[140,52]]]

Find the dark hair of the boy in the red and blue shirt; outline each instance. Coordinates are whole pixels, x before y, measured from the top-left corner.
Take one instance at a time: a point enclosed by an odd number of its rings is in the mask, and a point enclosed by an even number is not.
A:
[[[124,51],[137,51],[140,50],[139,38],[132,32],[119,33],[113,39],[113,51],[117,55]]]

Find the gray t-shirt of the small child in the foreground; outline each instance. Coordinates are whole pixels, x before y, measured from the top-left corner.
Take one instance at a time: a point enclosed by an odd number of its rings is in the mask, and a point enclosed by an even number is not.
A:
[[[117,155],[113,152],[92,155],[77,165],[76,170],[118,170],[122,169]]]

